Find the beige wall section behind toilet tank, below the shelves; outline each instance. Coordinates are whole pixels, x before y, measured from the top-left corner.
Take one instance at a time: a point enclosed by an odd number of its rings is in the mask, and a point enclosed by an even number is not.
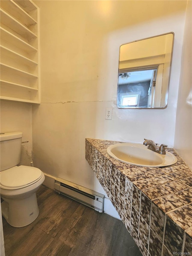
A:
[[[31,104],[1,101],[1,132],[22,131],[21,163],[30,166],[32,161],[32,110]]]

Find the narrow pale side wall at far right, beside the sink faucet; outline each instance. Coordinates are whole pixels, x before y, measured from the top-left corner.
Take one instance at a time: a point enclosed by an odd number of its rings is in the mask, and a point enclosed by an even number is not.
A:
[[[192,169],[192,2],[187,3],[174,148]]]

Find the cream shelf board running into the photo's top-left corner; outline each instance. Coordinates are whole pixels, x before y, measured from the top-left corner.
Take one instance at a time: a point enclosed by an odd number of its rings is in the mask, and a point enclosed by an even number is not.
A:
[[[13,0],[1,1],[1,8],[28,28],[37,24],[37,21],[13,2]]]

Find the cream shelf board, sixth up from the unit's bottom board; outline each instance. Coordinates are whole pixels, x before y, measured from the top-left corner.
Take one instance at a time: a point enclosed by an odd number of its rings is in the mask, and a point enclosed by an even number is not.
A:
[[[35,35],[31,30],[29,30],[24,25],[19,23],[16,19],[11,17],[9,14],[7,14],[2,9],[0,9],[0,16],[1,16],[2,24],[9,27],[14,32],[21,35],[23,38],[27,39],[28,41],[31,41],[31,40],[37,38],[37,35]]]

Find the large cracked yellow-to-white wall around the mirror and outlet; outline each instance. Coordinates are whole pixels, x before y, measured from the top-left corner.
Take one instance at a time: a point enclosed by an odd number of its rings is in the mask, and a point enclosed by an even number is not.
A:
[[[173,146],[185,1],[35,1],[40,7],[41,105],[32,106],[35,166],[103,193],[85,138]],[[175,33],[165,110],[116,107],[119,46]],[[113,119],[105,120],[105,109]]]

